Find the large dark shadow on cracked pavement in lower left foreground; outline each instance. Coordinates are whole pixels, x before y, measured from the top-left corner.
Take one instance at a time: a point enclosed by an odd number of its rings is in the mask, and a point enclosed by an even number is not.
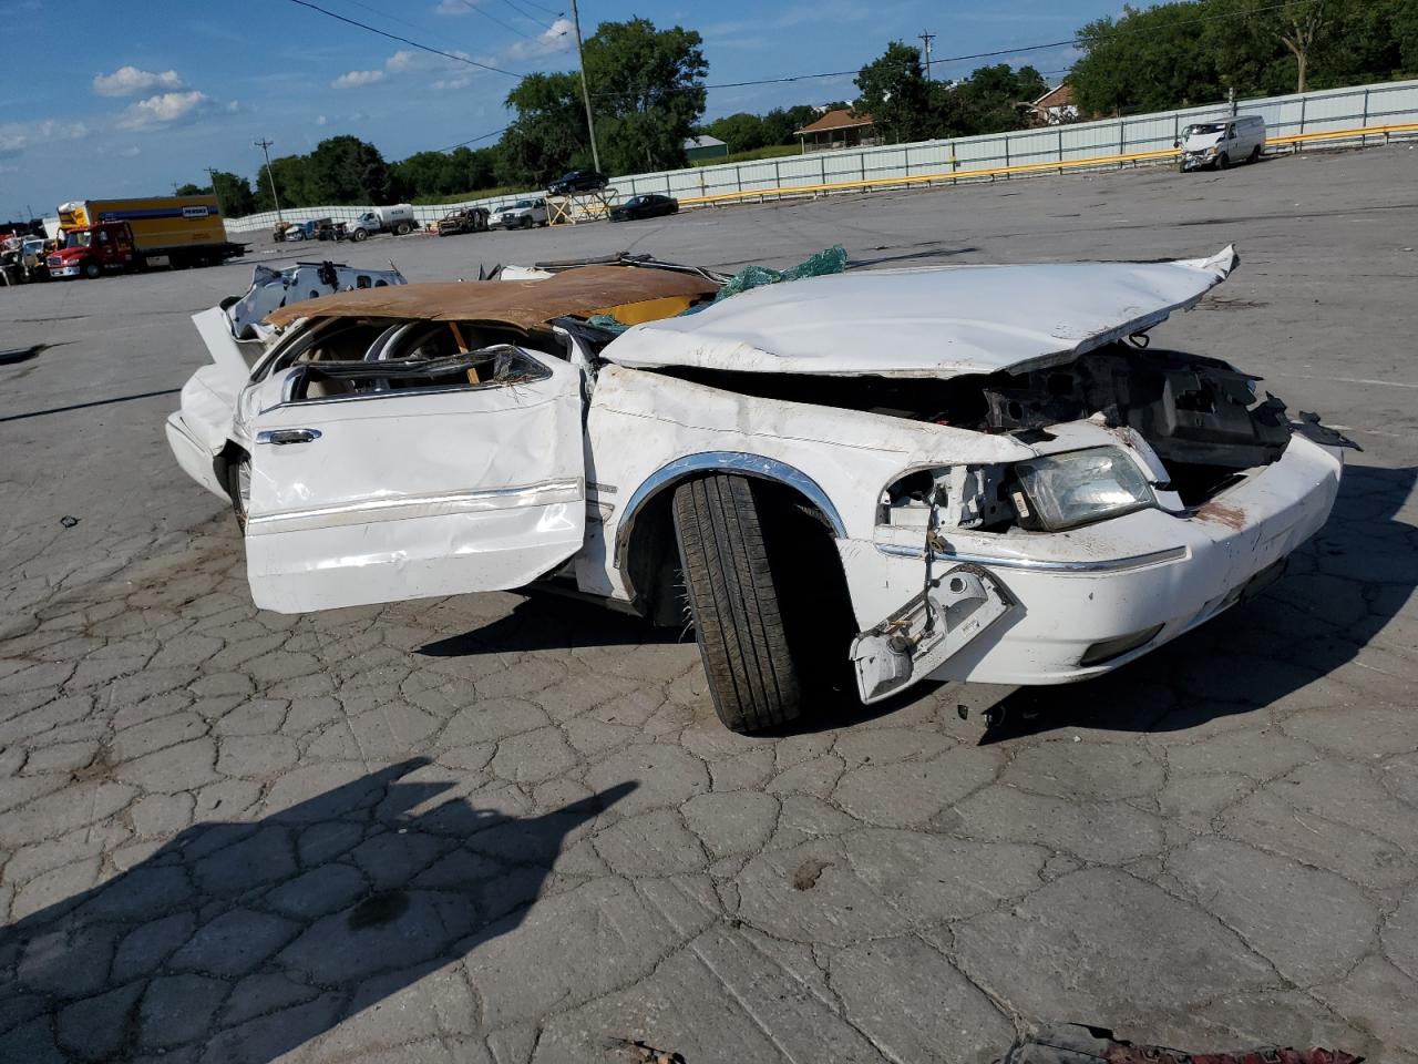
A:
[[[567,837],[635,789],[518,817],[437,803],[452,783],[406,779],[425,766],[194,824],[0,929],[0,1060],[274,1061],[516,928]]]

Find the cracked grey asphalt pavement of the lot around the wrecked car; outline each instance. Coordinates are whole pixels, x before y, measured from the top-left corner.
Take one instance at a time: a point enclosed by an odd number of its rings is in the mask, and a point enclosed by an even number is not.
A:
[[[1042,1020],[1418,1060],[1415,190],[1395,146],[0,289],[0,348],[47,345],[0,365],[0,1060],[988,1061]],[[162,437],[189,315],[254,261],[1232,241],[1154,339],[1343,426],[1334,516],[1255,603],[990,732],[1007,689],[943,687],[733,735],[692,643],[559,599],[258,613]]]

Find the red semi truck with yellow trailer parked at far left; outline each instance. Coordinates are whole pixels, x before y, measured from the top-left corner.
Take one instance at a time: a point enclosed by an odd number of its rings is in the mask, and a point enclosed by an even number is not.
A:
[[[60,238],[45,260],[60,278],[216,265],[245,253],[245,244],[227,240],[213,196],[62,203]]]

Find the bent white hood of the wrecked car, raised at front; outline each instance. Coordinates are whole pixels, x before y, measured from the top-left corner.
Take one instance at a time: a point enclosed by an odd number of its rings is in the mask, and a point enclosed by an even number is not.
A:
[[[1238,262],[869,270],[767,285],[647,322],[603,350],[621,366],[954,377],[1066,362],[1190,309]]]

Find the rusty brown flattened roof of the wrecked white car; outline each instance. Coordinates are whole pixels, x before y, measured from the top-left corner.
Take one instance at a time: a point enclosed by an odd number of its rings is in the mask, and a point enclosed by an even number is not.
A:
[[[644,267],[590,265],[542,281],[441,281],[336,292],[282,306],[267,322],[284,328],[299,318],[421,318],[431,322],[493,322],[523,331],[566,315],[588,318],[617,306],[718,291],[696,274]]]

